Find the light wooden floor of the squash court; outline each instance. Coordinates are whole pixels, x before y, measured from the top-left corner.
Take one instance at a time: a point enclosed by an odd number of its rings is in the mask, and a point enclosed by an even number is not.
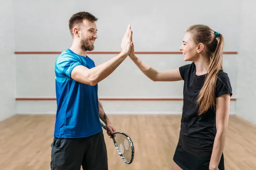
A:
[[[105,134],[109,170],[171,170],[180,129],[179,115],[109,115],[131,136],[135,157],[119,157]],[[17,115],[0,122],[0,170],[50,170],[54,115]],[[256,170],[256,126],[230,116],[224,150],[226,170]]]

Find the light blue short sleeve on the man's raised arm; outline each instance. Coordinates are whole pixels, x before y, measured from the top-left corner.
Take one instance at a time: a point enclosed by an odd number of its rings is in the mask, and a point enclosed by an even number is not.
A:
[[[63,54],[56,59],[55,69],[58,69],[61,74],[70,77],[71,71],[78,65],[82,64],[76,56],[73,56],[72,54]]]

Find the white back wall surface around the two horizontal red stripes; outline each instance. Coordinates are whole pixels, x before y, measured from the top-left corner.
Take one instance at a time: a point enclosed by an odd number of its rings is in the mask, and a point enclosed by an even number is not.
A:
[[[72,43],[68,20],[78,11],[89,11],[99,17],[99,38],[94,51],[120,51],[128,24],[134,31],[136,51],[179,51],[186,29],[198,23],[224,35],[224,51],[239,48],[239,41],[234,36],[239,34],[239,0],[216,0],[214,3],[204,0],[197,3],[190,0],[158,0],[157,3],[148,0],[19,0],[14,8],[15,51],[66,50]],[[58,54],[16,56],[17,97],[54,98],[54,64]],[[113,56],[89,55],[96,65]],[[179,54],[140,54],[138,57],[159,71],[187,63]],[[230,76],[233,98],[236,98],[236,60],[237,55],[224,55],[224,69]],[[182,98],[182,90],[182,81],[150,81],[129,58],[99,83],[100,98]],[[181,113],[182,110],[182,101],[103,101],[103,105],[107,113]],[[55,113],[55,109],[55,101],[17,101],[17,113]],[[236,101],[232,101],[231,112],[235,111]]]

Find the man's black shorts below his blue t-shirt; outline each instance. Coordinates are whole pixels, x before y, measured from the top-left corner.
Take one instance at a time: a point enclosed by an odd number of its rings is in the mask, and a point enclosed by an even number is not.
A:
[[[103,132],[86,138],[53,138],[51,170],[108,170]]]

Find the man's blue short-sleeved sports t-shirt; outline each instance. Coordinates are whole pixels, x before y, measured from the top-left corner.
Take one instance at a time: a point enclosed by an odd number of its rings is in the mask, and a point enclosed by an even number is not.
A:
[[[63,51],[55,62],[57,113],[54,136],[57,138],[81,138],[102,131],[98,85],[90,86],[71,79],[71,71],[78,65],[95,67],[92,59],[70,49]]]

